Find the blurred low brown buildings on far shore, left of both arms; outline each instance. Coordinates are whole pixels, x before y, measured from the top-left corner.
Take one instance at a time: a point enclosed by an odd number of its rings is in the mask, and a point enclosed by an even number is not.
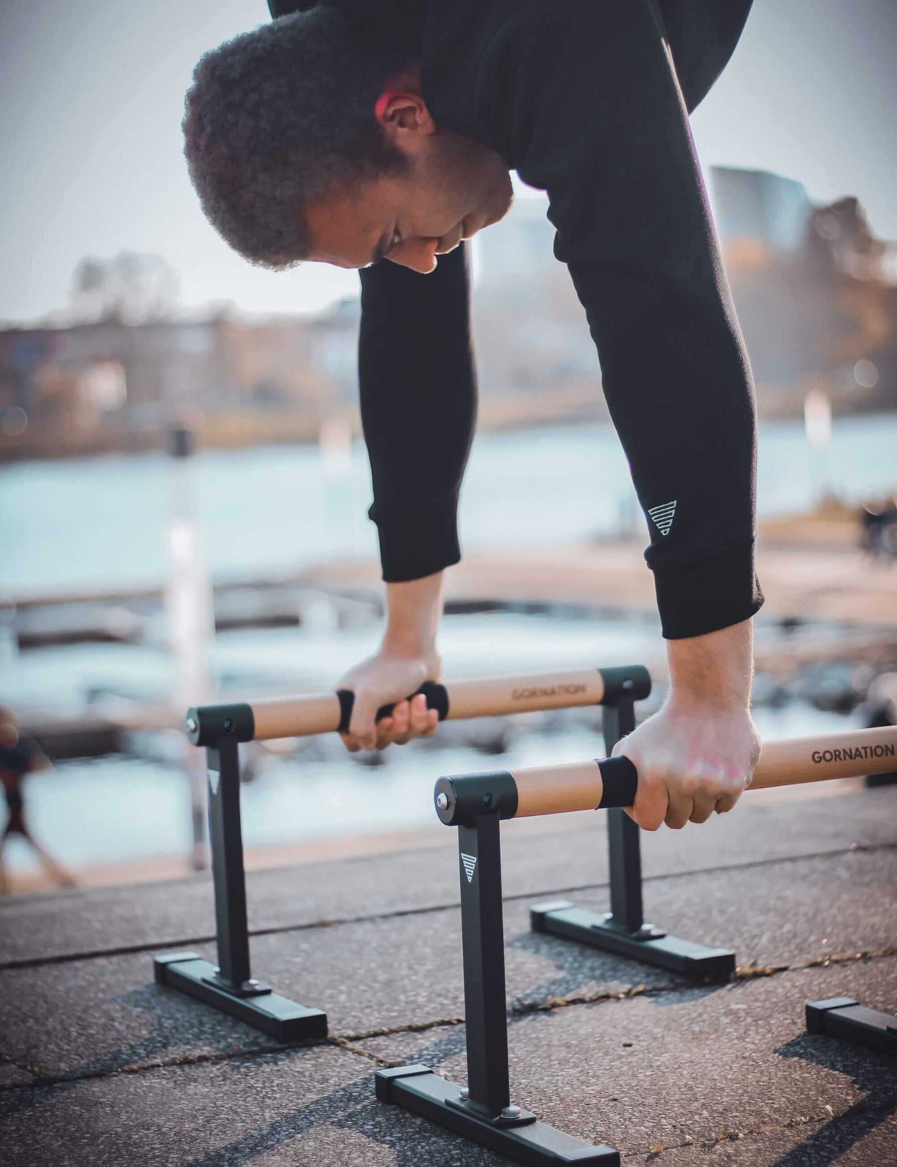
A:
[[[0,330],[0,455],[153,448],[184,411],[213,445],[313,438],[352,407],[356,333],[357,306]]]

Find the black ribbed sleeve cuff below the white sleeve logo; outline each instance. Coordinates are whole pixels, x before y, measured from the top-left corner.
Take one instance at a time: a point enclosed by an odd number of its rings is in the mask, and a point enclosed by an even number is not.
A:
[[[707,559],[654,568],[654,589],[668,641],[740,624],[763,605],[754,568],[754,544]]]

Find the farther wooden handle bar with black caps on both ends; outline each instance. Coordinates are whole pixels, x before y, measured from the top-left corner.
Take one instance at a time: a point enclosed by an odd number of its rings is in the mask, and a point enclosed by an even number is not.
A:
[[[418,692],[426,694],[427,706],[439,711],[440,720],[455,720],[601,705],[621,698],[642,700],[651,692],[651,677],[642,665],[625,665],[489,677],[446,685],[427,682]],[[229,735],[237,741],[252,741],[345,731],[353,701],[353,693],[341,690],[198,706],[187,714],[187,732],[195,746],[213,746]],[[384,705],[377,711],[378,719],[388,717],[392,708]]]

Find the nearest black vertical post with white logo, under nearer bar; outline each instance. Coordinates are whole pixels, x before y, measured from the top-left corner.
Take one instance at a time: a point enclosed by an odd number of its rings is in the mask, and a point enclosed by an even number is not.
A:
[[[498,815],[458,827],[470,1103],[493,1117],[511,1102]]]

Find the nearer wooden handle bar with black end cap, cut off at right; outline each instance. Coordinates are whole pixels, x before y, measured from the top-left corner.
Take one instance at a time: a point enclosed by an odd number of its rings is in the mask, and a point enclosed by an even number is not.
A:
[[[897,770],[897,726],[766,742],[749,790]],[[537,766],[520,770],[440,778],[436,812],[457,825],[483,809],[502,818],[631,806],[638,783],[628,757]]]

